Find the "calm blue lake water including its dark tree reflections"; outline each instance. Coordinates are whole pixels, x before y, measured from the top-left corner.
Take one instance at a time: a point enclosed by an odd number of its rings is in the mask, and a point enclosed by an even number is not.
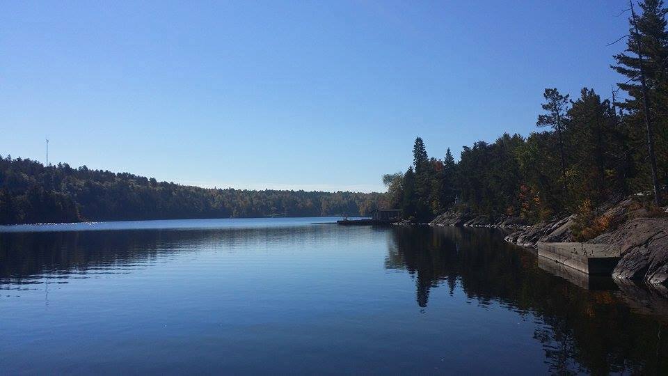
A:
[[[660,292],[493,230],[333,220],[0,233],[0,374],[668,372]]]

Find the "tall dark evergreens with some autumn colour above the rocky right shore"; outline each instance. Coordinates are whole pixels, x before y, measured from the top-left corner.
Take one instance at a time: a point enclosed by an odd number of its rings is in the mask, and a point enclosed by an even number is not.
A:
[[[654,197],[653,173],[661,201],[668,183],[667,10],[660,0],[641,8],[612,66],[628,80],[610,98],[582,88],[571,100],[548,88],[536,121],[545,130],[464,146],[456,163],[449,149],[430,158],[417,137],[408,171],[383,176],[390,205],[420,220],[453,207],[530,221],[573,212],[594,220],[611,196]],[[625,100],[617,99],[620,92]]]

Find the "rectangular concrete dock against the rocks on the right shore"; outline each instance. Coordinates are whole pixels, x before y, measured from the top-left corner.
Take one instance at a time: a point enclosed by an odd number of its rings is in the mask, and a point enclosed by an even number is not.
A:
[[[538,243],[538,256],[593,275],[611,275],[620,250],[608,244]]]

